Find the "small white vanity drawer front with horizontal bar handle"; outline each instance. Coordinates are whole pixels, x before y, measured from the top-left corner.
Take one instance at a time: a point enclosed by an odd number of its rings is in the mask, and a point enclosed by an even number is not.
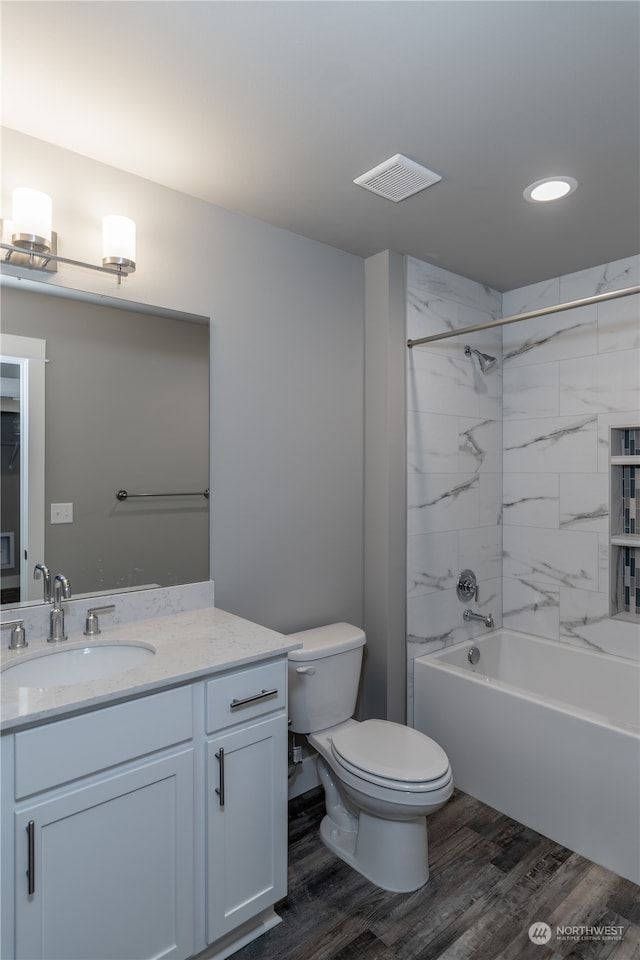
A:
[[[206,732],[282,710],[286,703],[287,664],[283,660],[222,674],[207,683]]]

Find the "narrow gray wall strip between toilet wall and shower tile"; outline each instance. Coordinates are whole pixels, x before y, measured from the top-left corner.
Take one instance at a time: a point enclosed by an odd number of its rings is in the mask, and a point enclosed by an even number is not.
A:
[[[404,259],[365,264],[365,629],[362,712],[405,720]]]

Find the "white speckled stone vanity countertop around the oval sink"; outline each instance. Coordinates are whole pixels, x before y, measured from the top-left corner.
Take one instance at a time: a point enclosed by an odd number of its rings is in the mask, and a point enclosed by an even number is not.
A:
[[[3,732],[283,656],[300,646],[284,634],[215,607],[117,626],[105,623],[95,640],[83,637],[80,632],[69,634],[68,640],[59,645],[47,643],[44,636],[37,640],[28,639],[26,650],[8,650],[6,646],[2,649],[0,668],[27,657],[52,653],[56,646],[67,650],[99,643],[144,643],[151,645],[156,653],[126,673],[86,683],[5,689],[0,674],[0,724]]]

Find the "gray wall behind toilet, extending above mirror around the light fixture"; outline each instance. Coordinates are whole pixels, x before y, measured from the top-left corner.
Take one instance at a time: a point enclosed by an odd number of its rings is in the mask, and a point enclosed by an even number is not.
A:
[[[65,265],[46,282],[211,318],[217,605],[361,624],[363,261],[15,131],[1,147],[3,209],[14,186],[48,192],[61,256],[99,262],[109,208],[136,221],[121,287]]]

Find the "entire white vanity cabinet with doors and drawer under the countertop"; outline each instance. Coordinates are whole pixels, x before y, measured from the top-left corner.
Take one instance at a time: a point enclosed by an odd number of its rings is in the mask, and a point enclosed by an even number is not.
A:
[[[222,960],[287,889],[286,653],[7,731],[2,960]]]

